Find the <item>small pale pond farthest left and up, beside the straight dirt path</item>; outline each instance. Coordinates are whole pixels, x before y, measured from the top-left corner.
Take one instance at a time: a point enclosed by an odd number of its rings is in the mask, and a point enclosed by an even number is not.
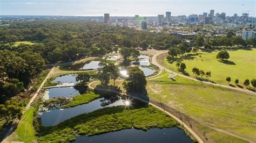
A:
[[[63,75],[55,78],[52,80],[52,82],[57,82],[58,84],[64,85],[64,84],[76,84],[76,75],[75,74],[69,74],[69,75]]]

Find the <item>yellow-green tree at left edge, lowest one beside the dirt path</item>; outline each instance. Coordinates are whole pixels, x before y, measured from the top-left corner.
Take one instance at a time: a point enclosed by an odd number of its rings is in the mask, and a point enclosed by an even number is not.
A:
[[[0,114],[7,123],[15,118],[21,119],[22,107],[15,101],[5,101],[4,104],[0,104]]]

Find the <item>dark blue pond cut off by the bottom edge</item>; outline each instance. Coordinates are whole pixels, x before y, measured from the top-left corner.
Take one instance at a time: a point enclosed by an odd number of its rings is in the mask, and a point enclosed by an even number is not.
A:
[[[75,142],[192,142],[177,127],[153,128],[146,132],[134,128],[93,136],[76,137]]]

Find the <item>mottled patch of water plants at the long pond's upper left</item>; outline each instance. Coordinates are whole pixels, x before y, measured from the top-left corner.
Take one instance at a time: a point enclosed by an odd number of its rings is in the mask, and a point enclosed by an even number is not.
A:
[[[48,99],[40,106],[38,112],[45,112],[45,111],[51,111],[51,110],[58,110],[63,105],[66,105],[72,101],[72,98],[70,97],[58,97],[53,99]]]

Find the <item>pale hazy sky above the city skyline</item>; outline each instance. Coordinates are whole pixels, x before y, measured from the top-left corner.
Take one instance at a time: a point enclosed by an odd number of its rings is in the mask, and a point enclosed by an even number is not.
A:
[[[172,16],[225,12],[227,16],[249,11],[255,17],[256,0],[0,0],[0,15],[56,16]]]

